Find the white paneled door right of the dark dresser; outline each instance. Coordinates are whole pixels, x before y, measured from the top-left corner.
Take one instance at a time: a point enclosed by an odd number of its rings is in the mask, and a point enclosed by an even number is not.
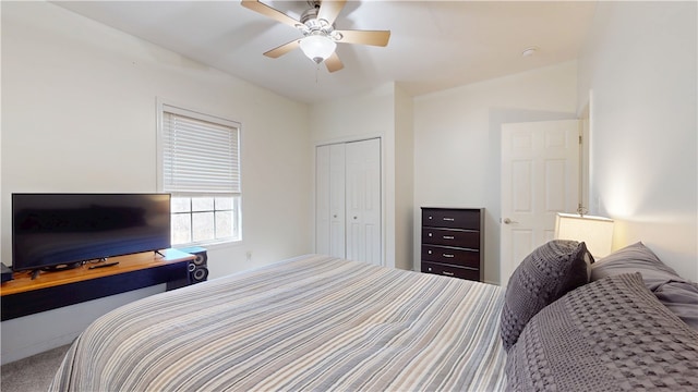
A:
[[[555,215],[579,200],[579,122],[502,125],[500,282],[553,238]]]

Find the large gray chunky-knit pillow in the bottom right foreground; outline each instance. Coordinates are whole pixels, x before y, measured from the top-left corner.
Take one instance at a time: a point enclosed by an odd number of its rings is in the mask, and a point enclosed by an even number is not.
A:
[[[698,333],[639,273],[569,292],[533,317],[506,358],[509,391],[698,391]]]

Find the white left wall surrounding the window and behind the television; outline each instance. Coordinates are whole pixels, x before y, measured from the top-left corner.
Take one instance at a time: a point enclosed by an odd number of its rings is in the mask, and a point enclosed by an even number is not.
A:
[[[209,248],[210,278],[312,252],[306,105],[51,3],[3,2],[2,262],[14,192],[157,191],[156,97],[242,124],[243,241]]]

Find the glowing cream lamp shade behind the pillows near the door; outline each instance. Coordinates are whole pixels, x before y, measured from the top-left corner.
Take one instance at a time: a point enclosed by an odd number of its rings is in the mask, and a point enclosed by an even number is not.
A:
[[[555,238],[585,242],[594,258],[607,256],[613,243],[613,220],[602,217],[557,213]]]

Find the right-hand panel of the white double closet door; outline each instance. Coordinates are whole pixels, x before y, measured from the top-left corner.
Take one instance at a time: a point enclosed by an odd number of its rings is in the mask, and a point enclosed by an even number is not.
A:
[[[346,144],[347,258],[382,266],[381,139]]]

